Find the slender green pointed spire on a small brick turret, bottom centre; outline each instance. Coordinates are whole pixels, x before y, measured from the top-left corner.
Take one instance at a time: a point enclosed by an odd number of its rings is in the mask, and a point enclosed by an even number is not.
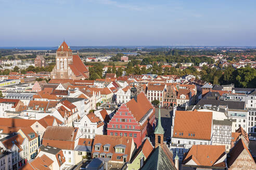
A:
[[[163,145],[163,134],[164,134],[164,130],[161,124],[161,112],[160,112],[160,107],[161,105],[159,105],[159,112],[158,112],[158,123],[157,123],[157,127],[155,129],[155,148],[157,148],[159,145]]]

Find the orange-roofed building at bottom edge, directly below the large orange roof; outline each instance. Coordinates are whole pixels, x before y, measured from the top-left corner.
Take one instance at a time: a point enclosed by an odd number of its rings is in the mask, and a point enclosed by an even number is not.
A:
[[[227,154],[223,145],[193,145],[184,155],[182,169],[226,170]]]

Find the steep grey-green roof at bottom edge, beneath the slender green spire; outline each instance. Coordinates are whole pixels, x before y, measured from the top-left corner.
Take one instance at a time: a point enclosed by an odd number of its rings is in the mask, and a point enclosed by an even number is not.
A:
[[[145,162],[142,170],[175,170],[176,168],[172,165],[167,155],[163,152],[162,148],[158,146],[150,157]]]

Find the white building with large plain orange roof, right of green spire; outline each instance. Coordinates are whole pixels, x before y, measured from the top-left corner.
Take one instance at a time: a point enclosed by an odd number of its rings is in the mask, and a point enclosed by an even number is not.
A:
[[[170,149],[180,160],[193,145],[211,145],[213,134],[212,112],[173,111]]]

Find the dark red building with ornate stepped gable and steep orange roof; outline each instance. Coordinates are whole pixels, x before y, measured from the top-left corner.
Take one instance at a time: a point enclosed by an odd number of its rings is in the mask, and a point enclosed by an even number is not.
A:
[[[108,123],[107,133],[112,136],[130,136],[137,147],[146,136],[153,135],[155,108],[144,92],[122,104]]]

